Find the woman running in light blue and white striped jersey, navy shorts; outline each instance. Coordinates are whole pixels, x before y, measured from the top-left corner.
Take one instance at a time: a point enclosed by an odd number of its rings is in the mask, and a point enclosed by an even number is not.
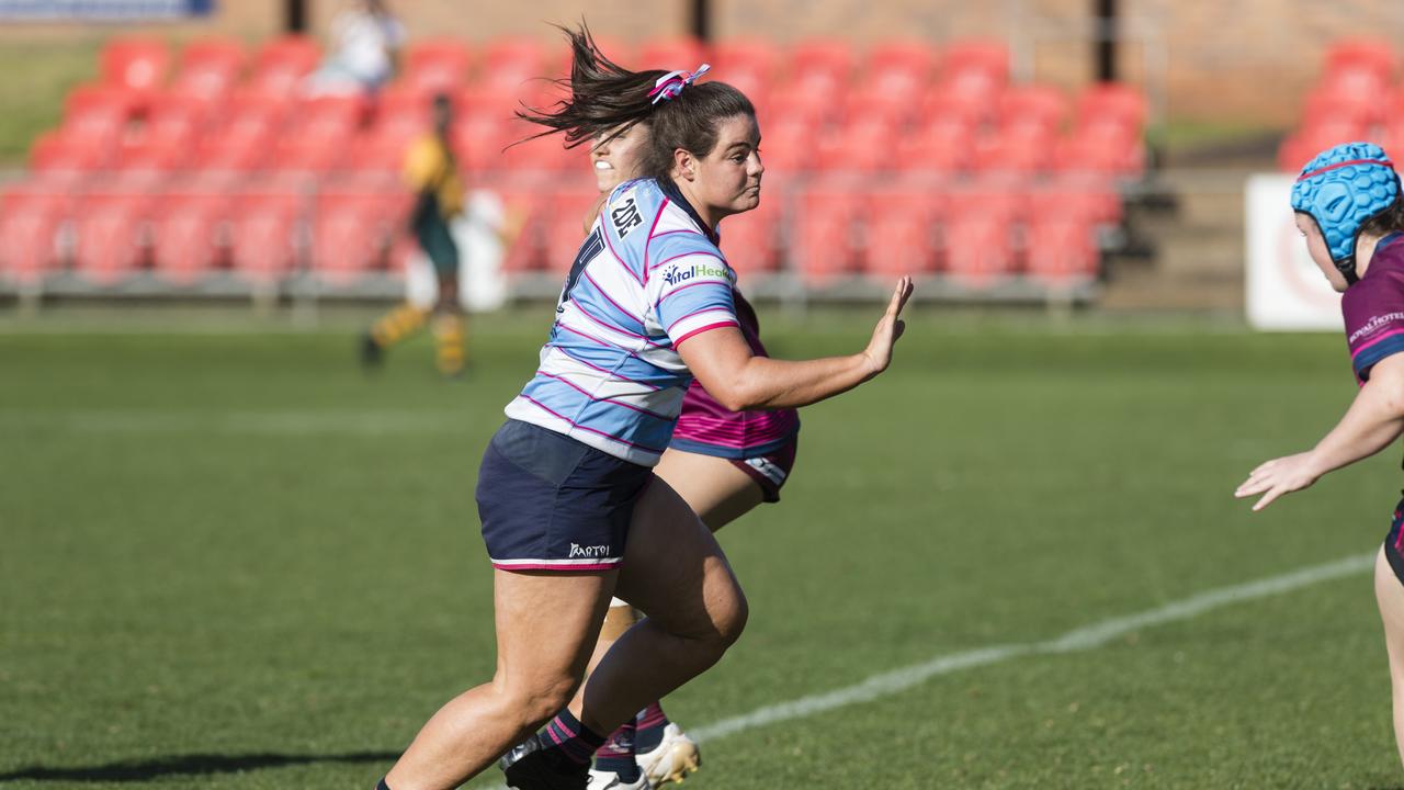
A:
[[[716,663],[746,624],[746,597],[716,538],[653,475],[688,384],[698,378],[731,410],[803,406],[885,371],[903,330],[907,277],[862,351],[755,356],[716,247],[717,224],[760,202],[755,108],[722,83],[621,69],[584,30],[570,37],[571,97],[531,119],[578,145],[647,118],[646,177],[602,207],[541,367],[479,468],[497,672],[430,718],[386,789],[456,787],[514,744],[503,760],[510,786],[585,787],[602,734]],[[573,701],[614,595],[647,619]]]

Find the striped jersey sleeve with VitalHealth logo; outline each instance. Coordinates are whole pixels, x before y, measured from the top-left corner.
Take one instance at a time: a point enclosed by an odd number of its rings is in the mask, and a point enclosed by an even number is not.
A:
[[[731,267],[703,236],[675,236],[650,245],[650,263],[660,263],[650,266],[647,278],[654,313],[673,346],[709,329],[740,328]]]

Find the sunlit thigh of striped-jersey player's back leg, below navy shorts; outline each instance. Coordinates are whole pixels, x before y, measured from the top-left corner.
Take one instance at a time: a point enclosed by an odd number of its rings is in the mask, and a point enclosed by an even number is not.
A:
[[[616,575],[496,571],[496,682],[525,694],[569,697],[584,676]]]

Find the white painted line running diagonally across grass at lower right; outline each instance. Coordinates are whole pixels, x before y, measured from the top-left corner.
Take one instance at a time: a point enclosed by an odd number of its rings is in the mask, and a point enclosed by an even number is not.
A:
[[[695,741],[726,738],[727,735],[736,735],[737,732],[754,730],[755,727],[765,727],[793,718],[804,718],[814,715],[816,713],[824,713],[840,707],[887,697],[918,686],[938,675],[949,675],[960,669],[988,666],[991,663],[1000,663],[1011,658],[1031,654],[1092,649],[1140,628],[1163,626],[1177,620],[1189,620],[1203,614],[1205,611],[1220,609],[1231,603],[1243,603],[1247,600],[1282,595],[1321,582],[1339,579],[1342,576],[1351,576],[1373,566],[1373,552],[1359,557],[1348,557],[1345,559],[1337,559],[1335,562],[1327,562],[1324,565],[1313,565],[1310,568],[1303,568],[1280,576],[1269,576],[1255,582],[1203,592],[1157,609],[1141,611],[1139,614],[1102,620],[1101,623],[1075,628],[1061,637],[1042,642],[995,645],[942,655],[924,663],[915,663],[901,669],[873,675],[872,678],[852,686],[835,689],[823,694],[810,694],[797,700],[758,707],[751,713],[723,718],[722,721],[703,727],[688,728],[688,735],[691,735]]]

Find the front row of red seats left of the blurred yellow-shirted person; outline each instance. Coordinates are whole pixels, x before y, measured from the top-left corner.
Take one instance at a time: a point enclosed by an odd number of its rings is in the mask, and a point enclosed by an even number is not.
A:
[[[0,195],[0,270],[28,283],[72,267],[98,287],[145,268],[173,285],[220,268],[277,281],[307,247],[312,268],[344,284],[407,254],[400,231],[409,198],[397,184],[359,179],[309,188],[288,179],[167,183],[156,191],[31,180]]]

